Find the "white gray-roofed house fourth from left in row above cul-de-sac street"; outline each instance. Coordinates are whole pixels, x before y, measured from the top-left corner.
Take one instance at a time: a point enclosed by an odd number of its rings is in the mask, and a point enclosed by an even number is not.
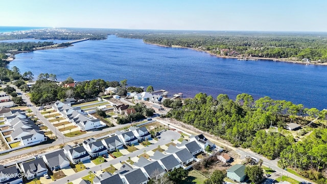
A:
[[[63,152],[73,164],[78,164],[79,162],[90,159],[90,155],[83,146],[73,148],[70,145],[66,145],[63,147]]]

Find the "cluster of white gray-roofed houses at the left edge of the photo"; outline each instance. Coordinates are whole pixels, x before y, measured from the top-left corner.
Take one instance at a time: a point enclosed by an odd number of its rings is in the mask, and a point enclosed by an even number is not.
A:
[[[10,109],[9,109],[10,110]],[[4,119],[2,127],[8,127],[1,132],[4,138],[10,138],[9,143],[20,142],[21,146],[32,146],[46,141],[46,136],[21,110],[10,110],[0,115]],[[8,132],[8,133],[5,133]]]

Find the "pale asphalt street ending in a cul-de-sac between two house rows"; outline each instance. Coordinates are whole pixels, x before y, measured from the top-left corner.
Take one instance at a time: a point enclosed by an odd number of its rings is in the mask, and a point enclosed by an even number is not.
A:
[[[58,179],[58,180],[56,180],[56,181],[54,181],[52,183],[61,184],[61,183],[67,182],[67,180],[73,181],[75,179],[82,178],[82,177],[88,175],[88,172],[89,171],[92,171],[92,172],[94,172],[94,171],[100,171],[101,169],[105,169],[107,167],[110,167],[111,164],[112,165],[115,165],[115,164],[120,163],[120,161],[123,162],[125,160],[128,160],[128,157],[129,156],[132,158],[132,157],[135,157],[135,156],[138,156],[138,155],[143,154],[144,153],[144,150],[151,151],[151,150],[157,148],[158,145],[161,146],[161,145],[165,145],[167,143],[170,143],[172,139],[177,140],[177,139],[179,139],[180,134],[178,132],[176,132],[176,131],[168,130],[168,131],[162,132],[160,136],[161,136],[161,139],[159,139],[159,141],[157,143],[155,143],[155,144],[149,145],[148,147],[144,147],[143,149],[139,149],[139,150],[134,151],[132,153],[129,153],[127,155],[124,155],[124,156],[115,158],[113,160],[110,160],[109,162],[105,162],[103,164],[100,164],[101,166],[100,165],[97,165],[97,166],[92,167],[90,169],[85,169],[83,171],[80,171],[78,173],[75,173],[75,174],[73,174],[71,176],[66,176],[64,178]]]

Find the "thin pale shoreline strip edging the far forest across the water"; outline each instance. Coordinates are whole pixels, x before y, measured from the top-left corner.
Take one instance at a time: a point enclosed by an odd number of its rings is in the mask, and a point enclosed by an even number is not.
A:
[[[202,51],[202,50],[199,50],[199,49],[196,49],[196,48],[182,47],[180,45],[172,45],[170,47],[170,46],[167,46],[167,45],[161,45],[161,44],[157,44],[157,43],[148,43],[148,42],[144,42],[144,43],[146,43],[146,44],[152,44],[152,45],[157,45],[159,47],[165,47],[165,48],[191,49],[191,50],[194,50],[194,51],[197,51],[197,52],[205,52],[205,53],[208,53],[208,54],[210,54],[212,56],[216,56],[218,58],[224,58],[224,59],[242,59],[242,58],[247,58],[249,60],[250,59],[258,59],[258,60],[270,60],[270,61],[274,61],[274,62],[281,61],[281,62],[292,62],[292,63],[295,63],[295,64],[305,64],[305,65],[312,64],[312,65],[326,65],[327,66],[327,62],[325,62],[325,63],[318,63],[318,62],[306,63],[306,62],[302,62],[302,61],[290,60],[290,59],[287,59],[287,58],[262,58],[262,57],[222,56],[222,55],[218,55],[218,54],[213,54],[210,51]]]

